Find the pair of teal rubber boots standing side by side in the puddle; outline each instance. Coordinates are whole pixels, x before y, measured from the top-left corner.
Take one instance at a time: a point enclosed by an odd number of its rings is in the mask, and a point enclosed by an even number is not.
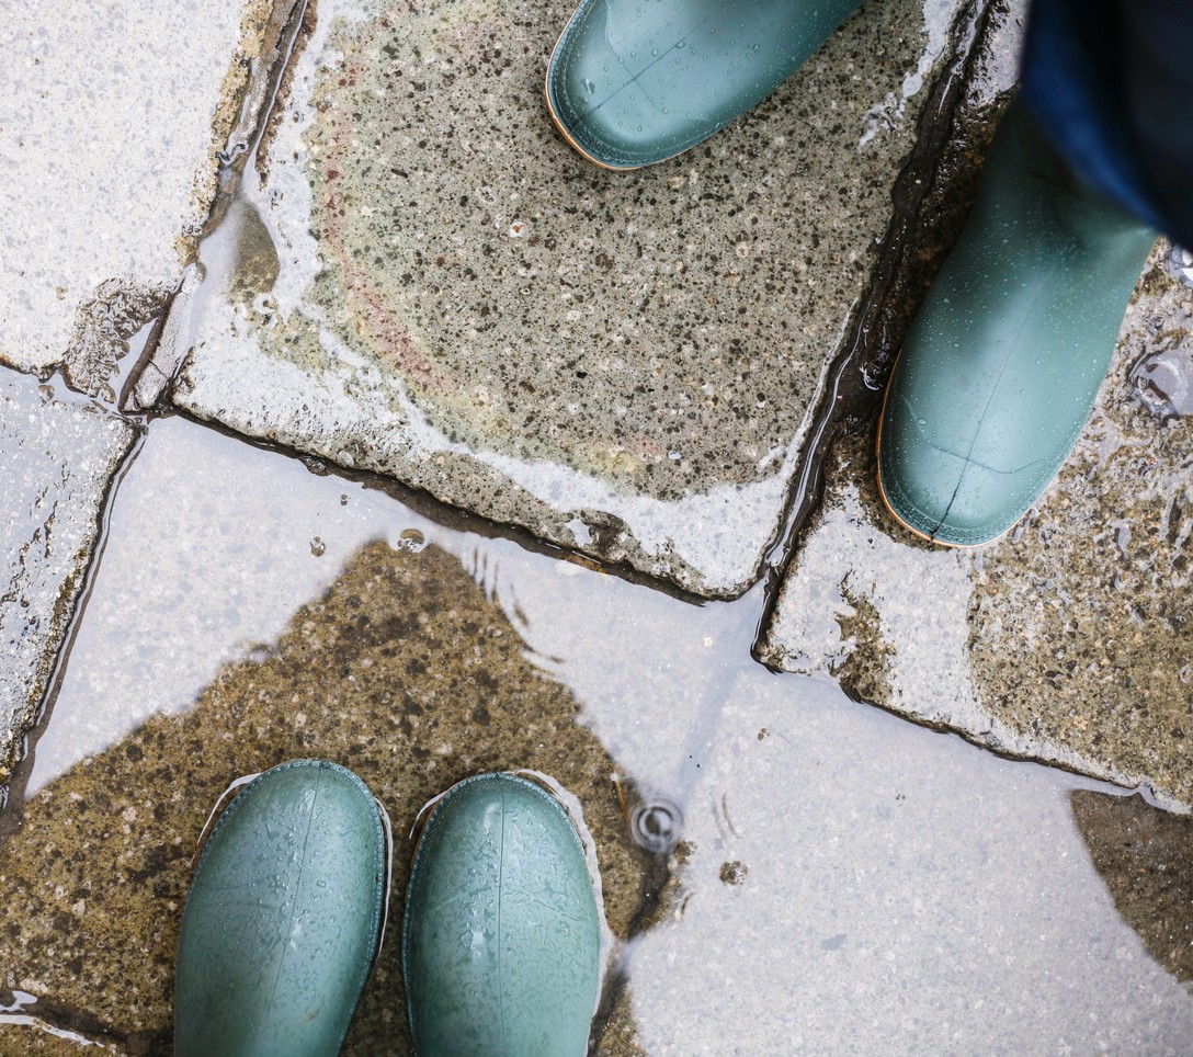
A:
[[[186,900],[174,1050],[333,1057],[384,933],[388,817],[324,760],[245,783]],[[415,1052],[585,1053],[601,915],[565,810],[507,773],[465,779],[428,808],[402,921]]]

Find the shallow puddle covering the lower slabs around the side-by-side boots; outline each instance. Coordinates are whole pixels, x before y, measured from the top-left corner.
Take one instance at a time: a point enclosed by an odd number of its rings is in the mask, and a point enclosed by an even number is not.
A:
[[[397,836],[345,1052],[409,1052],[419,809],[518,768],[595,842],[599,1052],[1187,1052],[1187,820],[775,675],[750,659],[761,607],[153,421],[6,817],[0,1050],[168,1052],[212,803],[322,756]]]

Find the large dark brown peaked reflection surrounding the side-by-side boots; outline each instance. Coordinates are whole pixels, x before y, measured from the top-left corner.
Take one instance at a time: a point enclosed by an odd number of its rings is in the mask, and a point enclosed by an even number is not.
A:
[[[224,668],[192,711],[152,717],[29,802],[0,849],[0,964],[41,1000],[30,1012],[135,1052],[168,1034],[203,822],[230,779],[301,756],[351,767],[387,805],[398,841],[391,922],[403,835],[431,797],[486,771],[552,775],[583,805],[608,923],[625,937],[647,859],[610,781],[620,768],[577,722],[570,691],[525,654],[457,558],[363,546],[276,647]],[[345,1053],[404,1037],[400,946],[387,941]]]

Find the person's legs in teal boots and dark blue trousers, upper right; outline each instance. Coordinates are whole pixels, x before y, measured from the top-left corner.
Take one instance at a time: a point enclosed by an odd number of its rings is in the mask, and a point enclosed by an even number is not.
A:
[[[583,0],[548,106],[633,168],[753,106],[858,5]],[[1009,528],[1067,458],[1158,230],[1193,243],[1193,5],[1036,0],[1021,98],[908,334],[879,433],[884,499],[951,545]]]

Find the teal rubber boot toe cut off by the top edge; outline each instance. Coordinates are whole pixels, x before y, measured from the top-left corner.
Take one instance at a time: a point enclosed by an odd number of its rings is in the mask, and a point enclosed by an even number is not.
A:
[[[694,147],[793,74],[860,0],[583,0],[546,105],[589,161],[638,168]]]

